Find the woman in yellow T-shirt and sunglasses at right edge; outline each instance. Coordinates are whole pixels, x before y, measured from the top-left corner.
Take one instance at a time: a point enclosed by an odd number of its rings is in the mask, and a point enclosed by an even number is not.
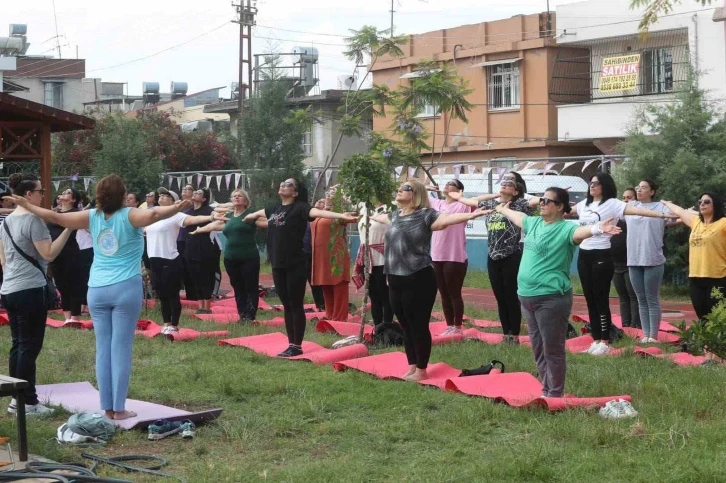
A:
[[[691,303],[702,322],[718,300],[713,289],[726,295],[726,217],[723,198],[706,191],[698,198],[698,212],[662,202],[691,229],[688,252],[688,277]]]

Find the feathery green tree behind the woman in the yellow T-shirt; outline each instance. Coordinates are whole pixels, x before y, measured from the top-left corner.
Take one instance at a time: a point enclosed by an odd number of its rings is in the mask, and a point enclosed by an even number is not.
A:
[[[628,161],[616,170],[621,186],[656,181],[659,196],[690,207],[704,191],[726,193],[726,117],[691,77],[676,102],[649,105],[619,145]],[[688,231],[666,232],[668,273],[688,266]]]

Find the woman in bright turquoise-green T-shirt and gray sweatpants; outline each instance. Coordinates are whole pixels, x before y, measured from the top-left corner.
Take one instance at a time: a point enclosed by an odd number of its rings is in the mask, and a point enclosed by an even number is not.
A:
[[[548,188],[539,203],[540,216],[511,210],[509,203],[498,205],[496,210],[524,231],[517,294],[542,379],[542,397],[562,397],[567,372],[565,340],[572,309],[570,266],[575,248],[591,236],[616,235],[621,230],[613,219],[582,227],[564,220],[570,212],[570,195],[561,188]]]

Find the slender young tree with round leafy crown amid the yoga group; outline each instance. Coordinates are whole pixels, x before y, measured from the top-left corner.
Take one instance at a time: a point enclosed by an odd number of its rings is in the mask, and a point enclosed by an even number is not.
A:
[[[396,190],[395,180],[393,179],[389,166],[376,158],[375,151],[369,151],[365,154],[354,154],[345,160],[340,168],[338,180],[340,187],[345,196],[355,205],[363,204],[366,208],[365,227],[366,239],[363,256],[365,260],[365,290],[363,295],[363,312],[361,317],[360,332],[358,340],[363,340],[363,333],[366,323],[368,322],[368,297],[370,287],[371,267],[370,250],[368,249],[371,219],[370,214],[375,208],[375,202],[381,201],[389,203]]]

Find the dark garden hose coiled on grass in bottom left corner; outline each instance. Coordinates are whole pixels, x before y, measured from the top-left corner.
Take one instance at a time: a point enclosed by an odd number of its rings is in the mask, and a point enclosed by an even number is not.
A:
[[[100,476],[96,476],[94,471],[96,470],[98,465],[106,464],[109,466],[121,468],[129,472],[145,473],[147,475],[154,475],[164,478],[174,478],[181,483],[186,483],[186,481],[181,477],[158,471],[169,463],[166,458],[162,458],[161,456],[127,455],[104,458],[88,453],[82,453],[81,456],[83,458],[93,461],[90,468],[86,468],[82,464],[43,463],[35,461],[28,463],[24,470],[0,473],[0,481],[18,481],[42,478],[51,481],[57,481],[59,483],[133,483],[133,481],[130,480],[103,478]],[[147,461],[151,464],[150,466],[145,467],[134,466],[128,464],[129,461]],[[52,471],[61,470],[73,471],[76,474],[51,473]]]

